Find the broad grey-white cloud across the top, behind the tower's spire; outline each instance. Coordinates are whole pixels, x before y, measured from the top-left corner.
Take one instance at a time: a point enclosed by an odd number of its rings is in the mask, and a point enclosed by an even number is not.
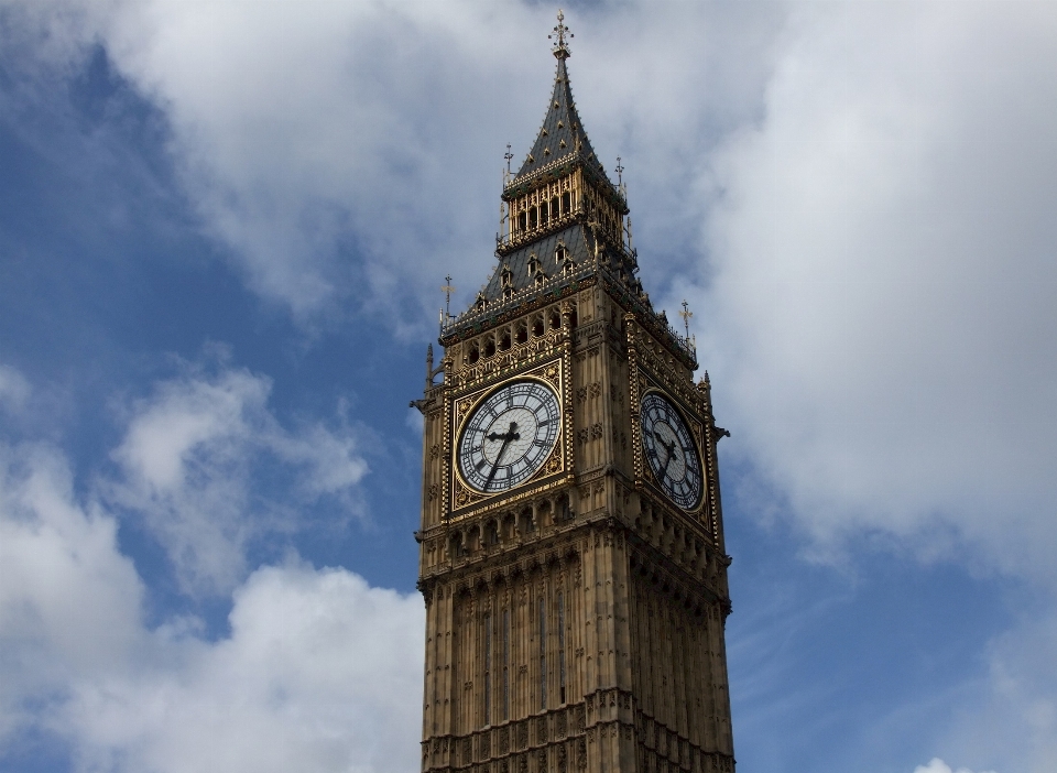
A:
[[[103,45],[116,70],[164,112],[172,159],[204,227],[230,248],[250,287],[297,318],[351,297],[421,335],[432,320],[418,312],[435,313],[446,272],[464,302],[487,279],[504,143],[523,157],[549,94],[553,8],[10,4],[22,19],[12,28],[46,40],[52,59]],[[580,25],[573,79],[587,128],[607,166],[621,153],[625,165],[634,157],[633,190],[652,202],[639,222],[666,259],[693,259],[682,248],[701,208],[686,189],[706,126],[758,108],[782,15],[771,9],[570,11]],[[709,68],[722,77],[706,88]]]

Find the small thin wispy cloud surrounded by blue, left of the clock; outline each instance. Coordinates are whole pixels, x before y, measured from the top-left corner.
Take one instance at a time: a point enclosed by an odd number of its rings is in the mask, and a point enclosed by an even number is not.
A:
[[[268,407],[270,389],[246,370],[188,366],[133,405],[113,451],[120,475],[106,485],[108,501],[157,536],[185,590],[230,592],[254,537],[297,529],[284,504],[355,504],[367,465],[351,433],[284,428]]]

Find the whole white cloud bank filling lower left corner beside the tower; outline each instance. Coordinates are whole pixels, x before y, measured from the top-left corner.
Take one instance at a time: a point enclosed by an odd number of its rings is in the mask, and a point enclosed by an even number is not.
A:
[[[116,519],[78,503],[57,450],[0,450],[0,753],[33,729],[81,771],[417,765],[419,598],[294,563],[237,588],[225,639],[148,630]]]

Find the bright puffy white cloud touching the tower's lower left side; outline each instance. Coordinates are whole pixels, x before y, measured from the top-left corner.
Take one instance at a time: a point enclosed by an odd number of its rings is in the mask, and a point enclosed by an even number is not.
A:
[[[164,667],[76,684],[57,719],[76,734],[85,767],[367,773],[417,764],[419,599],[302,566],[262,568],[235,599],[230,639],[160,632]]]

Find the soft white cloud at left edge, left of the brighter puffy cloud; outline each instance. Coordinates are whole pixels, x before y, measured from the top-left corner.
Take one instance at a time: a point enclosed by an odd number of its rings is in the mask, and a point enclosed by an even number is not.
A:
[[[55,449],[0,444],[0,742],[23,700],[61,699],[76,674],[132,657],[143,587],[117,523],[73,498]]]

